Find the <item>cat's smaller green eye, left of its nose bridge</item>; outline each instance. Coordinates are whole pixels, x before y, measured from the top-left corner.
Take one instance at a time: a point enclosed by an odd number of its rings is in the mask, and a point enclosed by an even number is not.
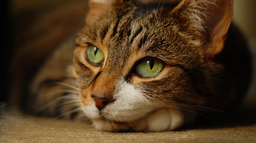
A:
[[[98,47],[94,45],[89,45],[87,50],[85,51],[85,57],[88,62],[92,63],[95,66],[100,66],[104,61],[104,54]]]

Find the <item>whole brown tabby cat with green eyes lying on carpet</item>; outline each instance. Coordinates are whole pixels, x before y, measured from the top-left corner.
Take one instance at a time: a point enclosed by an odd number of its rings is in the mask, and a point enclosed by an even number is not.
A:
[[[35,73],[22,107],[101,131],[172,131],[234,110],[250,83],[232,0],[90,0],[85,26]]]

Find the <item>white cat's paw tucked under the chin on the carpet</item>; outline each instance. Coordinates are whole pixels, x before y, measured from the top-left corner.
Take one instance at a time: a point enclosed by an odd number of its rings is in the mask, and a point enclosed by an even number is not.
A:
[[[184,115],[179,109],[159,109],[148,118],[140,120],[134,126],[134,131],[171,131],[183,125]]]

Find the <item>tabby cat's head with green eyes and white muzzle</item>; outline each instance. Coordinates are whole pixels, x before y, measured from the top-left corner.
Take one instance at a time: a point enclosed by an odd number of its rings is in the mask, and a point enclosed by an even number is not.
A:
[[[228,98],[216,55],[232,1],[91,0],[90,7],[73,75],[96,128],[126,130],[157,109],[214,107]]]

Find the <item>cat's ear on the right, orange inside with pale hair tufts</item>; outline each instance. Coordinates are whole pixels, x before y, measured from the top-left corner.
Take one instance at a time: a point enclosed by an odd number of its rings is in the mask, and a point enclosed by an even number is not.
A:
[[[192,33],[206,34],[205,55],[221,52],[232,21],[233,0],[184,0],[172,12],[189,19],[187,28]]]

